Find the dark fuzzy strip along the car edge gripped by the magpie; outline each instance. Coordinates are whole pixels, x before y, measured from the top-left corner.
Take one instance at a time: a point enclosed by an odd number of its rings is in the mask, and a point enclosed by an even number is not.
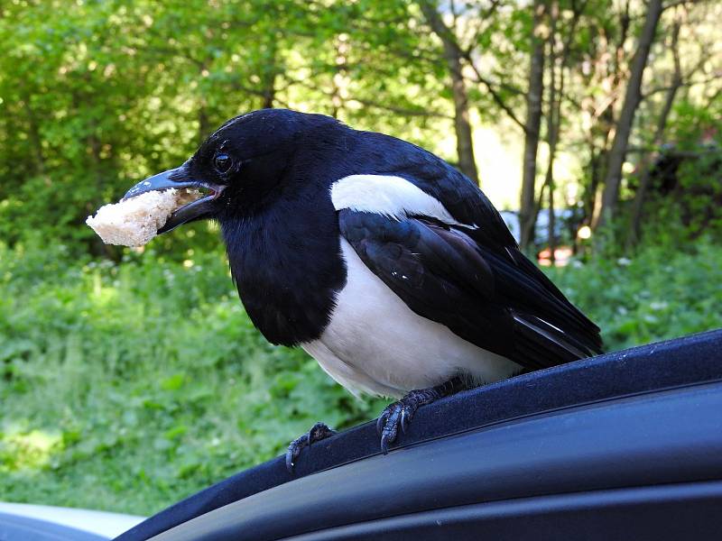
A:
[[[606,353],[468,390],[421,408],[399,449],[485,426],[609,399],[722,381],[722,329]],[[282,456],[239,472],[117,537],[147,539],[192,518],[300,477],[380,454],[369,422],[304,449],[293,473]]]

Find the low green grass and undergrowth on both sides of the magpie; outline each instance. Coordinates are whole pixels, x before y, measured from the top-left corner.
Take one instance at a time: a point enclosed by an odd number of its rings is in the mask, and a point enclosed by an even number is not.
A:
[[[380,411],[265,343],[219,253],[78,261],[0,245],[0,500],[151,514]],[[550,271],[608,349],[722,326],[722,248]]]

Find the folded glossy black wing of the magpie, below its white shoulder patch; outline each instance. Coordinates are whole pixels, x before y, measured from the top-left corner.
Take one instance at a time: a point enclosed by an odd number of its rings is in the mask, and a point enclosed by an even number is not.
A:
[[[483,224],[449,225],[424,215],[342,209],[338,221],[393,293],[468,342],[532,370],[600,352],[598,327],[508,236],[500,243]]]

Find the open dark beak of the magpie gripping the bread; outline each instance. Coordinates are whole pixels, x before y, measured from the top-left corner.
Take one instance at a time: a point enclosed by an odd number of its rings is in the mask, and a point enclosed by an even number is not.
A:
[[[130,188],[124,199],[140,196],[149,191],[157,191],[169,188],[190,188],[198,189],[201,193],[207,194],[187,205],[180,206],[168,217],[168,221],[158,230],[158,234],[167,233],[181,224],[187,224],[196,220],[211,217],[214,213],[214,201],[218,199],[225,186],[210,184],[202,180],[190,179],[188,163],[172,170],[163,171],[153,177],[138,182]]]

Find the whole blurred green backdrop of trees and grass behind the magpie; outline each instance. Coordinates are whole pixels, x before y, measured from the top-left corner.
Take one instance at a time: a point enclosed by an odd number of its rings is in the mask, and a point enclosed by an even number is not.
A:
[[[217,226],[84,225],[261,107],[476,180],[607,350],[722,326],[722,4],[4,0],[0,500],[150,514],[381,400],[273,347]]]

